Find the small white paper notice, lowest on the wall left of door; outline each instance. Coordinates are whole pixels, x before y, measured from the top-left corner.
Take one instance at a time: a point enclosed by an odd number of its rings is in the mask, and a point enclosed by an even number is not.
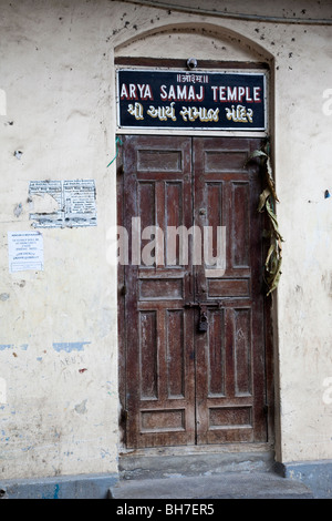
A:
[[[43,236],[39,232],[8,232],[9,272],[44,269]]]

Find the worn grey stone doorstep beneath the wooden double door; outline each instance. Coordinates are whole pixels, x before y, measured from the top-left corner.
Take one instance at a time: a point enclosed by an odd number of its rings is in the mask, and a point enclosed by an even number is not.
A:
[[[271,452],[125,454],[111,499],[314,499],[273,471]]]

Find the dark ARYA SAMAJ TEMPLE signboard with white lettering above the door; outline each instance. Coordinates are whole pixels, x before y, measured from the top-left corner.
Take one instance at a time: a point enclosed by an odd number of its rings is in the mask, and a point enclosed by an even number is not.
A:
[[[117,94],[124,129],[267,129],[263,73],[120,70]]]

